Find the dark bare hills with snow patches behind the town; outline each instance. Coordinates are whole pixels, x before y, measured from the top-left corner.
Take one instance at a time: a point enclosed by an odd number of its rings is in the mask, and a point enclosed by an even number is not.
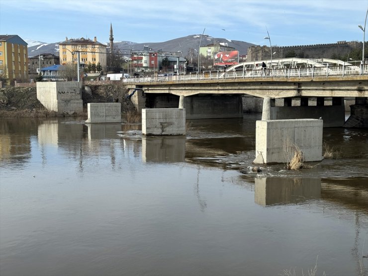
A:
[[[124,54],[128,54],[129,50],[143,50],[143,47],[149,46],[152,50],[162,50],[164,52],[178,52],[183,51],[183,55],[186,56],[188,50],[190,48],[198,49],[199,48],[199,41],[200,41],[200,34],[199,35],[188,35],[185,37],[175,38],[172,40],[164,41],[164,42],[145,42],[145,43],[135,43],[130,41],[120,41],[114,43],[115,48],[119,48]],[[34,45],[33,43],[30,44],[32,46],[28,47],[28,56],[33,57],[37,56],[38,54],[43,53],[51,53],[54,55],[59,56],[59,42],[54,43],[40,43]],[[228,46],[234,47],[236,50],[239,51],[240,55],[246,55],[248,47],[254,45],[252,43],[238,41],[238,40],[229,40],[225,38],[215,38],[208,35],[203,35],[201,46],[205,46],[208,44],[213,43],[221,43],[226,42]],[[105,43],[108,45],[108,43]]]

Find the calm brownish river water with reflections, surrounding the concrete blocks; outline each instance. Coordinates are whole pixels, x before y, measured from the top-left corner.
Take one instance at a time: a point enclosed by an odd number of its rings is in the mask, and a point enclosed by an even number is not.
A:
[[[325,128],[338,159],[255,173],[258,119],[147,138],[0,119],[0,275],[367,275],[368,130]]]

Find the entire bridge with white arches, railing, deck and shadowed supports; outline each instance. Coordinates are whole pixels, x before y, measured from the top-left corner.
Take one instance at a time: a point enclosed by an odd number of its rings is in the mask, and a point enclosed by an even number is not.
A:
[[[273,119],[322,115],[336,118],[340,114],[338,119],[326,121],[327,126],[344,124],[344,99],[357,99],[359,105],[367,106],[368,64],[297,58],[276,59],[272,66],[271,60],[265,63],[269,65],[267,68],[262,68],[262,61],[244,62],[226,71],[142,76],[123,82],[128,90],[137,91],[133,101],[138,109],[178,107],[178,96],[185,97],[190,108],[187,118],[241,117],[241,96],[270,97],[272,107],[291,107],[292,101],[299,99],[298,109],[274,108],[277,112],[272,113]],[[284,99],[281,106],[275,103],[277,98]],[[317,107],[310,106],[311,100]],[[335,107],[327,107],[327,100]],[[311,108],[303,108],[306,106]],[[198,112],[199,109],[207,111]]]

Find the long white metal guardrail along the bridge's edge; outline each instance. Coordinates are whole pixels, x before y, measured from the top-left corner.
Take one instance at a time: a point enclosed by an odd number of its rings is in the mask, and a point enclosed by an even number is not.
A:
[[[302,77],[328,77],[328,76],[353,76],[367,75],[368,64],[338,65],[326,67],[301,67],[281,69],[245,69],[236,71],[203,71],[199,74],[189,73],[169,76],[139,76],[123,79],[124,83],[147,83],[147,82],[180,82],[200,80],[227,80],[248,78],[302,78]]]

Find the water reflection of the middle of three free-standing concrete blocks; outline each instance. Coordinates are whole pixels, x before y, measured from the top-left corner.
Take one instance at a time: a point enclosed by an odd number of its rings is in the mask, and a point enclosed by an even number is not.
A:
[[[143,162],[184,162],[185,136],[142,137]]]

